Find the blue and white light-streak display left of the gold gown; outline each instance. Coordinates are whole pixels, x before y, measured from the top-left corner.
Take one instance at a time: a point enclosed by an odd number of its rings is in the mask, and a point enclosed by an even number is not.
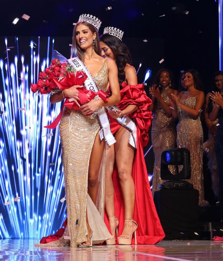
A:
[[[0,238],[41,238],[55,233],[66,217],[59,128],[43,127],[59,114],[61,103],[51,105],[48,95],[30,89],[49,66],[54,39],[47,39],[44,51],[39,37],[30,39],[26,54],[20,54],[21,38],[0,42],[5,50],[15,47],[0,59]]]

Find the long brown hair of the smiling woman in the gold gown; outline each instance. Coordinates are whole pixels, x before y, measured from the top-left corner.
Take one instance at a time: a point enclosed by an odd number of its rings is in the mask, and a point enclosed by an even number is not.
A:
[[[81,49],[81,47],[77,44],[76,41],[76,28],[78,25],[86,25],[91,32],[94,34],[96,33],[96,38],[94,40],[94,51],[96,52],[96,54],[101,55],[101,51],[100,51],[100,44],[99,44],[99,35],[98,35],[98,30],[96,27],[94,27],[91,23],[88,22],[77,22],[75,27],[73,28],[73,42],[72,42],[72,48],[71,48],[71,56],[72,57],[78,57],[81,61],[84,62],[84,52]]]

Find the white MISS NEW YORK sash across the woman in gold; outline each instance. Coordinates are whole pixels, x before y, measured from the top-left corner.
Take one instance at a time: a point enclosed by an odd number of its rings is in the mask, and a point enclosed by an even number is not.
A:
[[[87,90],[97,92],[98,87],[97,87],[93,77],[89,73],[88,69],[83,64],[83,62],[81,60],[79,60],[77,57],[69,59],[68,62],[77,71],[83,71],[87,75],[88,78],[84,82],[85,88]],[[97,99],[99,98],[98,96],[96,96],[96,97],[97,97]],[[99,124],[101,126],[101,129],[99,131],[100,139],[102,140],[104,138],[107,145],[111,146],[112,144],[114,144],[116,142],[116,140],[111,133],[110,124],[109,124],[109,121],[108,121],[108,116],[107,116],[106,111],[105,111],[105,107],[101,107],[98,110],[97,117],[98,117],[98,120],[99,120]]]

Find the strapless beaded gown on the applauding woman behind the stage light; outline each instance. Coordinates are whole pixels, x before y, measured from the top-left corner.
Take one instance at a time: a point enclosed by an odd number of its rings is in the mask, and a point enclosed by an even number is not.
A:
[[[182,104],[194,109],[196,97],[181,101]],[[207,205],[204,200],[204,185],[202,172],[203,156],[203,129],[200,117],[191,114],[178,106],[179,123],[177,126],[177,145],[190,150],[191,155],[191,179],[187,180],[193,184],[194,189],[199,191],[199,205]]]

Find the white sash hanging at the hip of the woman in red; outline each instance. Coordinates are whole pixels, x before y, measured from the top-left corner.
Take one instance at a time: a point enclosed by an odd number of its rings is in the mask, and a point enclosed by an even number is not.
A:
[[[108,110],[117,111],[117,106],[107,106]],[[121,124],[124,128],[129,130],[129,144],[137,149],[137,127],[135,122],[129,118],[127,115],[121,116],[115,119],[119,124]]]

